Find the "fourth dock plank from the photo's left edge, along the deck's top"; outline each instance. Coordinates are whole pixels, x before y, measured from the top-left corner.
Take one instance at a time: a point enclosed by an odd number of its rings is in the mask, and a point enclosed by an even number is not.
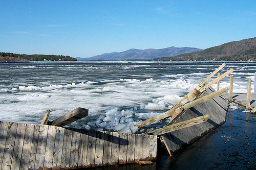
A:
[[[20,161],[19,169],[29,169],[29,161],[32,149],[32,141],[34,134],[35,125],[27,124],[24,136],[23,150],[22,150],[22,158]]]

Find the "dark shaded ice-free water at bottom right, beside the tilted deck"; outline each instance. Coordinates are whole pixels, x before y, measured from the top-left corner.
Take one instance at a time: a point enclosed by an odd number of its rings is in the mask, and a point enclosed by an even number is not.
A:
[[[226,123],[169,157],[160,151],[153,165],[128,164],[94,169],[256,169],[256,115],[230,110]]]

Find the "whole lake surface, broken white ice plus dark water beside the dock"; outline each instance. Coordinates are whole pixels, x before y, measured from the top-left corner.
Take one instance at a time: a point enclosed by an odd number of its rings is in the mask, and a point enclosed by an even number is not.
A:
[[[145,130],[134,124],[168,110],[221,64],[174,61],[0,63],[0,120],[40,124],[48,109],[51,110],[49,119],[53,120],[83,107],[89,109],[89,116],[70,127],[141,133]],[[230,68],[234,69],[231,74],[234,75],[233,93],[246,93],[248,78],[254,84],[256,63],[227,62],[221,74]],[[220,83],[220,88],[228,86],[229,76]],[[162,127],[168,120],[151,126]],[[163,151],[154,165],[143,168],[256,168],[255,121],[253,114],[231,104],[226,124],[173,158]]]

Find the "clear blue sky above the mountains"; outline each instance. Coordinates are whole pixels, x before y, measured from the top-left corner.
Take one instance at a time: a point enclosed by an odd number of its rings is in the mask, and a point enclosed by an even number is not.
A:
[[[92,57],[256,37],[255,0],[0,0],[0,7],[0,52]]]

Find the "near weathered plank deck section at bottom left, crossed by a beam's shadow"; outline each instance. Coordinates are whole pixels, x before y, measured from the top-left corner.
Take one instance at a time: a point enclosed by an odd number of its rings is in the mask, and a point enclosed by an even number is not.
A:
[[[157,136],[0,122],[0,169],[76,169],[156,160]]]

